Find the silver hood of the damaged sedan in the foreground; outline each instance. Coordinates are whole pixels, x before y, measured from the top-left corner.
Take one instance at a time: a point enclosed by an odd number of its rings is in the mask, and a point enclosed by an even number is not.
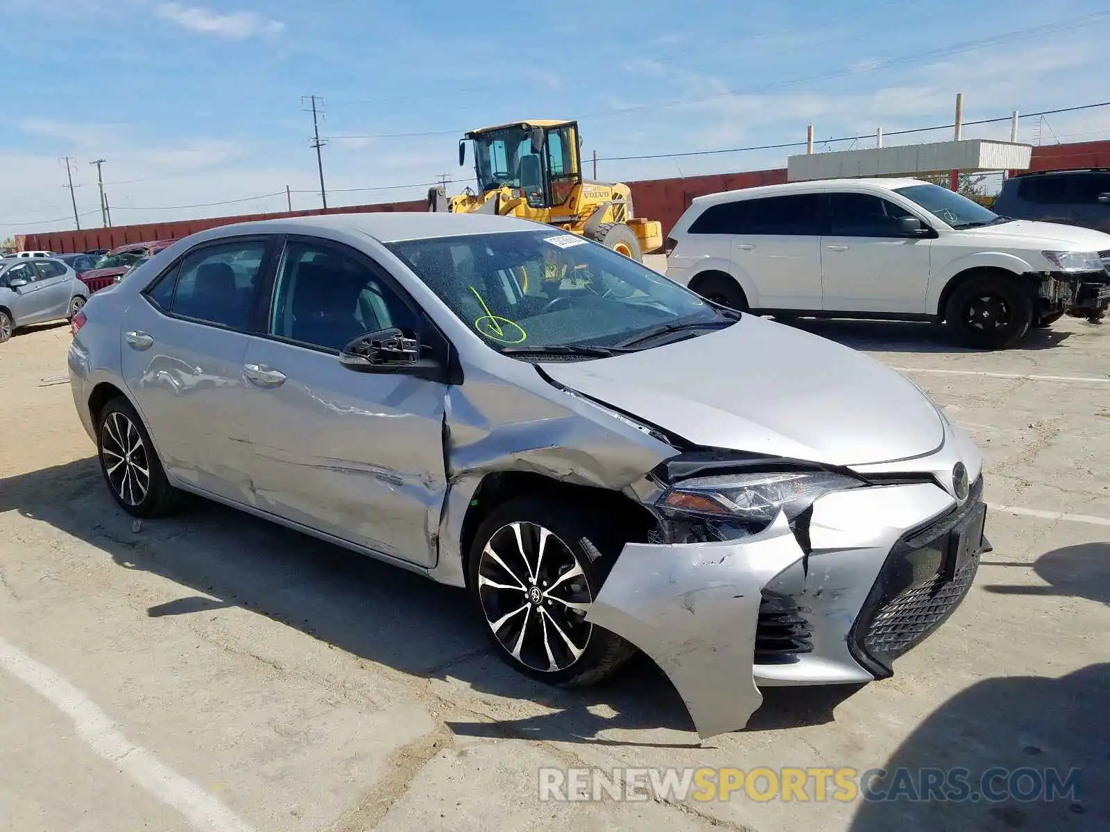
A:
[[[665,346],[541,367],[704,446],[849,466],[920,456],[944,443],[937,408],[897,372],[751,315]]]

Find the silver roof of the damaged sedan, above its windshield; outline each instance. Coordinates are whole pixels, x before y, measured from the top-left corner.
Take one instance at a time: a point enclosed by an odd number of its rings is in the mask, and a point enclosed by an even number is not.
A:
[[[275,220],[222,225],[219,230],[228,233],[269,232],[311,234],[315,231],[359,232],[374,237],[381,243],[402,240],[427,240],[431,237],[463,236],[467,234],[494,234],[512,231],[559,230],[531,220],[494,214],[453,214],[450,212],[397,211],[360,214],[326,214],[316,216],[290,216]],[[213,234],[212,236],[219,236]]]

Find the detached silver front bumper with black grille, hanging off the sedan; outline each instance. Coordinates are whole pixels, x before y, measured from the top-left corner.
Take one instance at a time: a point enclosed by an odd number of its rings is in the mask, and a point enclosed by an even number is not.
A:
[[[963,599],[985,548],[981,479],[962,503],[931,483],[827,494],[807,534],[628,544],[587,620],[667,674],[705,739],[743,728],[760,686],[867,682]]]

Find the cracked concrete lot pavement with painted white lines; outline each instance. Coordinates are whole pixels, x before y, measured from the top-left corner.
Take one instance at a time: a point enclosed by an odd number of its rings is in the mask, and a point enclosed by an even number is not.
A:
[[[554,691],[490,652],[456,590],[206,503],[133,524],[74,415],[68,328],[17,335],[0,346],[0,828],[1106,829],[1110,325],[1064,318],[1002,353],[928,326],[797,325],[902,369],[970,430],[993,551],[895,678],[767,691],[704,744],[647,661]],[[1081,789],[538,800],[538,769],[577,765],[1078,768]]]

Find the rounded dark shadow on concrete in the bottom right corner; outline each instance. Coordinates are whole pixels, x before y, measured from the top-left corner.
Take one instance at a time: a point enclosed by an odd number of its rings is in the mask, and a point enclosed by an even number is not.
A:
[[[1110,829],[1107,760],[1110,663],[988,679],[944,702],[861,778],[870,787],[849,832]]]

